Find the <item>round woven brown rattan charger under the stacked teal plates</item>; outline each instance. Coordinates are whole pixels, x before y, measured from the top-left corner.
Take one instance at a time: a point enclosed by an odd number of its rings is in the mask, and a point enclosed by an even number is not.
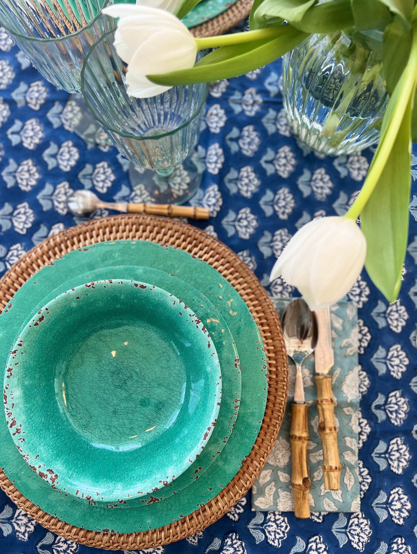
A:
[[[50,531],[87,546],[108,550],[136,550],[165,545],[205,529],[241,499],[260,473],[277,437],[287,399],[288,365],[277,312],[255,275],[225,244],[204,231],[176,220],[123,215],[94,219],[65,229],[25,254],[0,279],[1,310],[23,283],[54,259],[104,240],[150,240],[185,250],[210,264],[235,287],[261,332],[268,362],[265,416],[250,455],[232,481],[199,510],[170,525],[139,533],[104,533],[74,527],[40,510],[26,499],[0,470],[0,486],[22,510]]]

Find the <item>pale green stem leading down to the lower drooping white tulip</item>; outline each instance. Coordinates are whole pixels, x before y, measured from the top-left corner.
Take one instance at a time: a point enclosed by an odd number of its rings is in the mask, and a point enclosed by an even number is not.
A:
[[[403,81],[400,98],[398,99],[395,97],[395,92],[393,96],[391,96],[390,101],[397,102],[397,104],[394,109],[391,110],[390,120],[387,124],[386,131],[381,137],[377,151],[375,152],[373,161],[370,165],[367,178],[363,183],[363,187],[349,211],[344,216],[348,219],[353,219],[354,221],[358,219],[359,214],[362,212],[365,204],[368,202],[371,194],[373,193],[375,186],[377,186],[398,135],[398,131],[400,129],[401,122],[403,121],[405,111],[409,105],[410,98],[414,95],[417,83],[417,20],[413,23],[413,42],[411,43],[410,56],[408,63],[405,66],[404,74],[405,79]],[[398,82],[398,85],[401,85],[401,80]],[[390,106],[388,105],[387,112],[389,107]],[[415,106],[414,109],[417,109],[417,106]]]

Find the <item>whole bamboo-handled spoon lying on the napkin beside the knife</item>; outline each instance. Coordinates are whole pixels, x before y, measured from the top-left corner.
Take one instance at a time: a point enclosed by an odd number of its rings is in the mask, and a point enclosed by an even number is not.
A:
[[[289,429],[294,514],[296,517],[306,519],[310,517],[308,502],[310,479],[307,463],[308,414],[304,398],[302,365],[316,347],[317,321],[306,301],[297,298],[287,305],[281,317],[281,324],[287,355],[296,365],[296,384],[291,404],[291,427]]]

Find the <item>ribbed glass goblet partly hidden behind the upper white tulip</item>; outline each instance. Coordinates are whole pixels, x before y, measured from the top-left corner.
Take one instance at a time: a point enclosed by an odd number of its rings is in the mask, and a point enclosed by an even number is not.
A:
[[[199,138],[206,83],[176,86],[152,98],[126,90],[126,66],[113,46],[114,32],[91,48],[82,71],[82,93],[94,117],[133,167],[131,184],[141,200],[182,203],[200,186]]]

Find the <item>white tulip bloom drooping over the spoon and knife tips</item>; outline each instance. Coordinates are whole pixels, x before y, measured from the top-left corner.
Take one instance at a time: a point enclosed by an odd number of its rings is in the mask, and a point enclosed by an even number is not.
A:
[[[321,310],[348,293],[366,254],[366,239],[353,219],[313,219],[289,240],[269,279],[282,275],[297,287],[311,310]]]

